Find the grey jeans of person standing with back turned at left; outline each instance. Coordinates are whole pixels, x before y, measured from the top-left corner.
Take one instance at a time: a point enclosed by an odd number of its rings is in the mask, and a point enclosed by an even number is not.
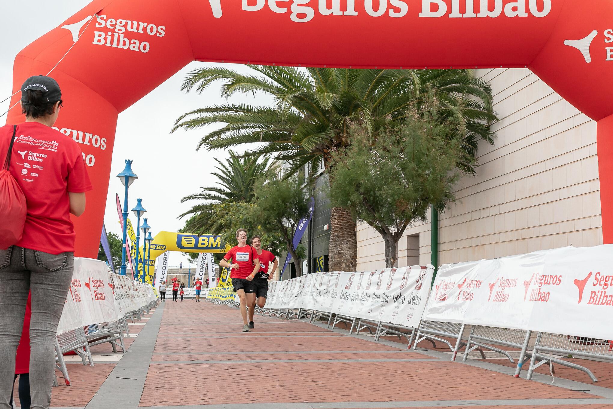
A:
[[[16,246],[0,250],[0,409],[11,407],[15,354],[28,291],[32,292],[30,408],[48,409],[55,376],[55,332],[73,270],[72,253],[48,254]]]

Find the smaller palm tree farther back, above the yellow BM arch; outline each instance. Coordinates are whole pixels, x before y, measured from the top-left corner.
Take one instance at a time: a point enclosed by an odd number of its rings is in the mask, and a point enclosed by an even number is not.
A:
[[[187,201],[203,201],[194,205],[187,212],[181,214],[179,218],[191,215],[185,224],[184,231],[190,232],[212,232],[215,220],[211,220],[211,209],[213,205],[223,202],[245,202],[250,203],[254,199],[253,189],[257,180],[261,179],[268,169],[270,159],[265,156],[261,161],[257,158],[240,157],[234,151],[229,150],[229,161],[222,162],[215,158],[218,166],[217,172],[211,175],[216,176],[219,186],[202,186],[199,193],[190,194],[183,197],[181,203]]]

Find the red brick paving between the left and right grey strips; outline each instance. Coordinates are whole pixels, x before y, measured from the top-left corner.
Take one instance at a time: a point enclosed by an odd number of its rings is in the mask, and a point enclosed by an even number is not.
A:
[[[256,329],[245,334],[240,332],[242,320],[235,308],[208,302],[171,303],[164,308],[141,407],[600,398],[402,350],[402,345],[347,337],[301,321],[256,316]],[[479,408],[525,408],[525,402]],[[577,407],[613,408],[612,402]]]

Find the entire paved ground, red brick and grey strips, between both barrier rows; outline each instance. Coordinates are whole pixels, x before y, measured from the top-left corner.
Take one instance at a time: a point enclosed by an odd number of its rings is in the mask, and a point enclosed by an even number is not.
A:
[[[496,364],[485,369],[474,364],[482,361],[450,362],[440,346],[407,351],[406,342],[390,342],[396,337],[375,343],[364,335],[349,337],[345,329],[296,320],[256,316],[256,329],[241,329],[235,308],[166,302],[150,319],[130,325],[138,336],[124,340],[129,351],[121,361],[70,363],[72,386],[54,388],[52,406],[613,409],[613,391],[560,378],[551,385],[546,383],[551,378],[541,375],[535,381],[516,379],[501,373],[512,365],[503,359],[485,360]],[[108,343],[92,351],[94,360],[113,356]],[[594,371],[603,380],[597,385],[610,387],[608,367],[602,368]],[[556,369],[562,377],[588,381],[581,373]]]

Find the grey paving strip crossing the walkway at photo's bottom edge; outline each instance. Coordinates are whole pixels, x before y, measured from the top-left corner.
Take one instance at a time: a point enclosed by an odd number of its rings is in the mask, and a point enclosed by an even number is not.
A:
[[[497,399],[497,400],[410,400],[408,402],[301,402],[237,403],[221,405],[145,406],[139,409],[353,409],[353,408],[444,408],[451,406],[517,405],[538,409],[541,405],[590,405],[613,403],[609,399]]]

